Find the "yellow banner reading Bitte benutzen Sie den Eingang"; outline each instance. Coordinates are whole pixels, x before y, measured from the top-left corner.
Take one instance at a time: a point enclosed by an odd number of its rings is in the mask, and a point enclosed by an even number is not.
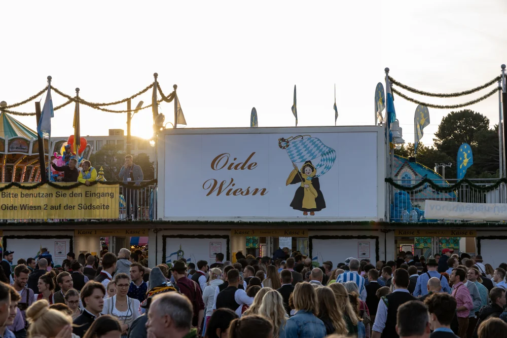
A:
[[[0,184],[0,188],[6,185]],[[114,219],[119,216],[119,201],[118,184],[82,185],[70,190],[49,185],[32,190],[11,187],[0,192],[0,219]]]

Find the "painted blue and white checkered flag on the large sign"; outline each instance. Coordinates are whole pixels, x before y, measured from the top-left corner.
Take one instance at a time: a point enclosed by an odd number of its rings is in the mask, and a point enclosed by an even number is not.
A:
[[[286,150],[293,163],[303,163],[320,157],[319,163],[315,166],[317,170],[315,177],[327,173],[335,164],[335,149],[325,145],[316,137],[296,136],[286,140],[280,139],[279,142],[281,142],[279,143],[280,148]],[[321,170],[319,171],[319,169]]]

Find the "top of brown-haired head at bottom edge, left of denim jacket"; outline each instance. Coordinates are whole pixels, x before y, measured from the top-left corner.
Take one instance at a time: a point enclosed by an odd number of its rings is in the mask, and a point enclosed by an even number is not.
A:
[[[253,315],[234,319],[229,326],[229,338],[272,338],[273,325],[268,319]],[[316,337],[315,337],[316,338]]]

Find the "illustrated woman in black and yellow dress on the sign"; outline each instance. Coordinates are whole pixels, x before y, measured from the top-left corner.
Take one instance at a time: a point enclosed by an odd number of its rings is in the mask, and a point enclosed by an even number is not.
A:
[[[325,201],[322,192],[320,191],[320,183],[318,177],[315,177],[316,169],[311,161],[306,161],[301,171],[298,166],[293,163],[294,170],[288,176],[286,185],[300,184],[294,199],[292,200],[291,207],[295,210],[303,211],[303,215],[315,215],[315,211],[320,211],[325,208]]]

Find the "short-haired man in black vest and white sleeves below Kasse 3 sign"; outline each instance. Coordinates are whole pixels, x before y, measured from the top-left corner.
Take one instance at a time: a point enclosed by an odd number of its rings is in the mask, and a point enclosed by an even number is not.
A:
[[[216,297],[216,309],[227,308],[238,316],[241,316],[243,304],[250,306],[253,303],[253,297],[249,297],[245,290],[239,289],[239,271],[231,269],[227,272],[229,286],[222,290]]]

